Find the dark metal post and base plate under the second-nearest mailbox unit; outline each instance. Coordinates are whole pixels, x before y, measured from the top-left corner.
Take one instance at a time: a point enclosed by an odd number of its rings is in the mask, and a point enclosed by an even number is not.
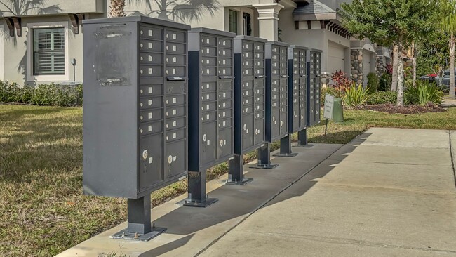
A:
[[[184,200],[184,206],[207,207],[218,201],[216,198],[208,198],[206,194],[206,169],[189,171],[188,194],[188,199]]]

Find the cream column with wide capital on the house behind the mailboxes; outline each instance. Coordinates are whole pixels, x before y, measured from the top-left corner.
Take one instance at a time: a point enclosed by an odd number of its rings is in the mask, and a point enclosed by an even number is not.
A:
[[[281,4],[253,4],[258,11],[258,23],[260,37],[269,41],[279,39],[279,11],[283,8]]]

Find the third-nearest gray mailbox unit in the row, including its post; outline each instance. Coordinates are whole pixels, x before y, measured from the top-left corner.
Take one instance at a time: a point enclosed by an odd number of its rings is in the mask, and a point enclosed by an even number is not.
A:
[[[263,147],[265,39],[234,39],[234,159],[229,161],[229,183],[243,185],[243,154]]]

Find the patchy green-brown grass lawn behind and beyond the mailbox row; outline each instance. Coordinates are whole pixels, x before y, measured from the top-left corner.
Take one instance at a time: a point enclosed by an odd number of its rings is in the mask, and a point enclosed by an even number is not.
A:
[[[441,113],[344,112],[343,124],[309,129],[309,142],[348,143],[371,126],[456,130],[456,108]],[[277,144],[275,144],[277,147]],[[247,154],[246,160],[255,158]],[[211,169],[208,178],[227,172]],[[152,194],[160,204],[186,191]],[[126,220],[126,201],[82,195],[82,108],[0,105],[0,256],[53,256]]]

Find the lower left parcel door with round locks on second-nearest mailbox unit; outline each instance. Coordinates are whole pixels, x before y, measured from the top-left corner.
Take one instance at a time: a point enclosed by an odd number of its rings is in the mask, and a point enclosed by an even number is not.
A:
[[[201,124],[201,165],[210,164],[217,159],[217,122]]]

